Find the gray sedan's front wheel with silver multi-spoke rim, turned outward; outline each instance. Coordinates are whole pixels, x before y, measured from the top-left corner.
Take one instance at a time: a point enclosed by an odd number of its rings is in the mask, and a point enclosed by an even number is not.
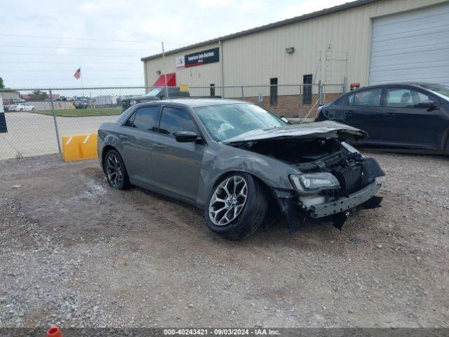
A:
[[[235,173],[213,187],[204,217],[216,234],[241,240],[262,225],[267,210],[267,192],[262,183],[248,173]]]

